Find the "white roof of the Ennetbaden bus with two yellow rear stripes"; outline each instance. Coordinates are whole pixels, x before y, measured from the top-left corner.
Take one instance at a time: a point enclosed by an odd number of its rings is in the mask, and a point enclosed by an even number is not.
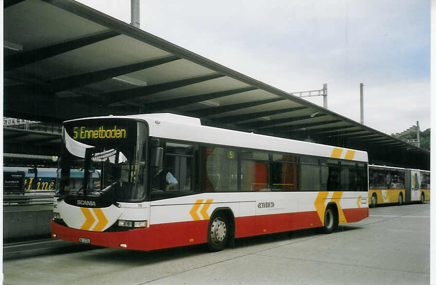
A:
[[[86,119],[139,119],[147,122],[149,135],[153,137],[227,145],[251,149],[261,149],[285,153],[313,155],[345,160],[368,161],[365,151],[335,147],[314,142],[303,142],[291,139],[272,137],[242,131],[235,131],[201,125],[199,118],[171,113],[139,114],[128,116],[104,116]],[[76,121],[69,120],[66,122]]]

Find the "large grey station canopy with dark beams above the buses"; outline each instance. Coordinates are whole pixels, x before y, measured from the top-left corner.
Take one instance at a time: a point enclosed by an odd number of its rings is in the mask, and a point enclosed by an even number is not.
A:
[[[61,122],[171,112],[429,169],[430,152],[72,0],[4,1],[4,116]],[[382,123],[382,122],[381,122]]]

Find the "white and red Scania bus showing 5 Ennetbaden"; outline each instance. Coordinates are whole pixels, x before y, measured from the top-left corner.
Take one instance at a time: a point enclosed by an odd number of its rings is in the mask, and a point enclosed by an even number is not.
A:
[[[52,236],[138,250],[368,216],[367,153],[203,126],[174,114],[63,124]],[[73,170],[84,172],[73,185]],[[101,180],[93,181],[98,171]]]

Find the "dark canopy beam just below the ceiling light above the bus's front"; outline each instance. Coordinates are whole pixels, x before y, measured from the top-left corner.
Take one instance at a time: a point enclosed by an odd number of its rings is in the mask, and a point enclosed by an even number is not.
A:
[[[163,92],[166,90],[176,89],[176,88],[180,88],[180,87],[184,87],[184,86],[188,86],[188,85],[216,79],[216,78],[223,77],[223,76],[224,75],[222,75],[220,73],[212,73],[212,74],[195,76],[195,77],[190,77],[190,78],[185,78],[185,79],[175,80],[175,81],[170,81],[170,82],[164,82],[164,83],[159,83],[159,84],[154,84],[154,85],[149,85],[149,86],[144,86],[144,87],[122,89],[122,90],[117,90],[117,91],[112,91],[112,92],[107,92],[107,93],[101,93],[99,95],[102,97],[102,100],[103,100],[102,103],[104,105],[109,105],[109,104],[113,104],[113,103],[122,102],[125,100],[135,99],[138,97],[143,97],[143,96]]]

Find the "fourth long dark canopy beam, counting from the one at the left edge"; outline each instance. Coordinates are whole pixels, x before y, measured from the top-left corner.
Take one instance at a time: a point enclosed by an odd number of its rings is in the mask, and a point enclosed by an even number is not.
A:
[[[221,98],[229,95],[234,95],[238,93],[248,92],[255,90],[257,88],[255,87],[243,87],[243,88],[237,88],[237,89],[230,89],[225,91],[218,91],[213,93],[206,93],[206,94],[200,94],[200,95],[193,95],[193,96],[187,96],[177,99],[166,99],[166,100],[160,100],[160,101],[153,101],[151,103],[145,104],[145,110],[147,112],[156,112],[160,110],[165,110],[169,108],[177,108],[182,107],[186,105],[191,105],[194,103],[199,103],[201,101],[205,100],[211,100],[216,98]]]

